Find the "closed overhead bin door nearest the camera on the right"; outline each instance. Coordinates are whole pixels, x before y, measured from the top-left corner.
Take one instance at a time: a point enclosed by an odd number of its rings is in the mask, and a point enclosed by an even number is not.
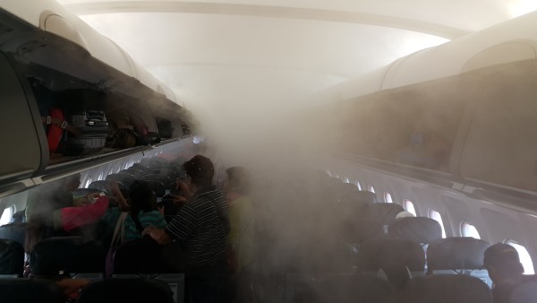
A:
[[[537,60],[499,65],[473,115],[463,177],[537,191]]]

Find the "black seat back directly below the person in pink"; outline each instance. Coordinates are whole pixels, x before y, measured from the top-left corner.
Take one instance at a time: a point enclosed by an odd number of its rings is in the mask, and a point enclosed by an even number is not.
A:
[[[107,251],[81,237],[46,238],[30,253],[30,271],[37,276],[58,273],[104,273]]]

